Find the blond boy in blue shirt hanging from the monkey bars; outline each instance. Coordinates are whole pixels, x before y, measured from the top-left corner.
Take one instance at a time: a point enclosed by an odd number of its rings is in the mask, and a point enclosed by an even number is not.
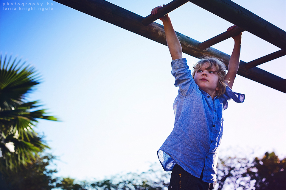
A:
[[[151,14],[157,14],[159,8]],[[218,147],[223,134],[222,112],[228,106],[227,100],[244,101],[243,94],[231,91],[239,66],[241,34],[233,37],[227,74],[226,66],[215,57],[203,58],[191,74],[168,14],[160,20],[179,94],[173,105],[174,129],[158,150],[158,158],[165,171],[172,170],[168,189],[211,190],[216,183]]]

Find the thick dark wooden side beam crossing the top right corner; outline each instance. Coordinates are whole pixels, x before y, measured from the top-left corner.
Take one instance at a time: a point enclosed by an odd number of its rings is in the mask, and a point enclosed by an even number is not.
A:
[[[263,40],[286,49],[286,32],[230,0],[190,0]]]

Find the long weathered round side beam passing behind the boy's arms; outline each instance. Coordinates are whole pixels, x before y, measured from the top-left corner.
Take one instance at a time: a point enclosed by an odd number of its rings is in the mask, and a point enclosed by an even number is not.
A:
[[[99,18],[103,21],[109,22],[123,29],[129,30],[150,40],[167,45],[164,27],[158,23],[151,23],[148,26],[142,24],[142,16],[133,12],[125,10],[114,4],[104,0],[55,0],[73,9],[84,12],[88,15]],[[198,41],[187,37],[178,32],[177,36],[181,42],[183,52],[194,57],[201,57],[203,55],[215,56],[223,59],[226,66],[228,65],[230,56],[214,48],[207,48],[205,50],[199,49]],[[253,81],[264,84],[268,87],[274,88],[286,93],[285,79],[268,73],[265,70],[257,67],[249,70],[245,69],[245,62],[240,61],[240,67],[237,74],[249,78]]]

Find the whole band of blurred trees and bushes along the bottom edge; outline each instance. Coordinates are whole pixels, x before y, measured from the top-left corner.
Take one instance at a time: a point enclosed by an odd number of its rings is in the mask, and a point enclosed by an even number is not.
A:
[[[149,171],[140,174],[128,173],[93,183],[86,181],[75,183],[75,180],[71,178],[52,178],[52,174],[57,171],[47,168],[50,168],[49,163],[54,159],[53,156],[35,157],[36,159],[31,159],[32,163],[28,163],[26,167],[21,165],[18,172],[13,172],[9,176],[5,175],[10,189],[48,190],[56,187],[63,190],[167,190],[170,181],[170,172],[164,172],[161,166],[153,164]],[[284,190],[286,183],[285,159],[279,160],[274,153],[266,153],[266,156],[255,158],[253,162],[246,158],[236,157],[220,159],[217,168],[216,189]]]

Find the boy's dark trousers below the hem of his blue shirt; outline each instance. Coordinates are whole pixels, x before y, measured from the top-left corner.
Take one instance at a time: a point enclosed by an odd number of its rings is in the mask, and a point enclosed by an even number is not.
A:
[[[203,172],[202,172],[203,174]],[[176,164],[171,174],[168,190],[212,190],[213,183],[203,182],[203,175],[200,178],[186,172],[181,166]]]

